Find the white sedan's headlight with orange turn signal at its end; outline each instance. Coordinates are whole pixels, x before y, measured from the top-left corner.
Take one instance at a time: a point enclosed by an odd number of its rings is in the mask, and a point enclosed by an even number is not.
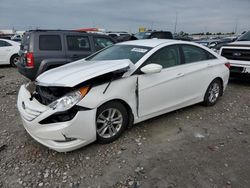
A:
[[[50,108],[57,111],[66,111],[72,108],[75,104],[77,104],[89,91],[90,86],[85,86],[76,90],[74,92],[70,92],[63,97],[57,99],[56,101],[49,104]]]

